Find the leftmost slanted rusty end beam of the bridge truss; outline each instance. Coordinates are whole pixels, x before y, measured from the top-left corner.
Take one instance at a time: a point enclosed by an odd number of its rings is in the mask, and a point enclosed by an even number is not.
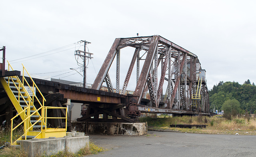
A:
[[[120,38],[116,38],[116,40],[114,41],[114,44],[110,48],[110,51],[108,52],[108,55],[100,68],[100,72],[98,73],[94,83],[92,84],[92,89],[97,89],[97,90],[100,89],[106,77],[106,74],[108,73],[108,70],[116,56],[116,48],[118,47],[120,40],[121,40]]]

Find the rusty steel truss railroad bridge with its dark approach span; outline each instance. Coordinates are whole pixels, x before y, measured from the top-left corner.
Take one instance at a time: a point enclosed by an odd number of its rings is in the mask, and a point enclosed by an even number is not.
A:
[[[131,53],[130,66],[126,67],[128,72],[124,83],[120,86],[121,49],[128,46],[135,50]],[[114,89],[109,70],[115,58],[116,87]],[[135,64],[136,79],[131,78]],[[36,83],[40,93],[45,96],[46,106],[66,107],[65,102],[68,99],[71,102],[83,103],[82,117],[78,121],[136,122],[136,118],[141,113],[210,115],[205,72],[195,54],[155,35],[116,38],[91,89],[42,79],[34,79],[34,81],[31,78],[27,79],[28,84]],[[16,71],[10,71],[5,72],[5,76],[2,75],[2,77],[19,74]],[[21,78],[21,76],[18,77]],[[133,94],[126,94],[130,78],[133,79],[132,83],[136,80],[136,88]],[[103,83],[106,83],[108,91],[100,90]],[[6,107],[10,101],[7,94],[4,94],[3,88],[0,88],[3,91],[0,105]],[[150,99],[146,99],[147,93]],[[39,95],[38,91],[36,95]],[[12,111],[12,109],[9,110]],[[58,117],[66,116],[63,109],[56,110],[48,114],[58,115]],[[55,119],[50,123],[57,127],[65,126],[66,122]]]

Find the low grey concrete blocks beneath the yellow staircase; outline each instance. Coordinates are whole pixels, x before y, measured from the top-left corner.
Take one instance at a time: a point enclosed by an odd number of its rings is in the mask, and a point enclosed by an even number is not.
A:
[[[20,147],[28,152],[28,157],[53,155],[65,150],[76,153],[83,147],[89,147],[89,136],[28,139],[20,141]]]

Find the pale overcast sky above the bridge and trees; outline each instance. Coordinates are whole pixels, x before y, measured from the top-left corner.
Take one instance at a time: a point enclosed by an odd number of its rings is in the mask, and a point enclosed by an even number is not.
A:
[[[82,81],[70,68],[79,67],[74,51],[83,50],[74,43],[86,40],[93,83],[115,38],[158,34],[198,56],[209,89],[219,81],[256,83],[255,0],[0,0],[0,6],[0,47],[15,70],[23,63],[30,74]]]

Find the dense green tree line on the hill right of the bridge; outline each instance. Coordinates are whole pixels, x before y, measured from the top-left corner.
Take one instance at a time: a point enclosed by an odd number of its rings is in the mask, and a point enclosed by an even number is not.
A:
[[[223,82],[209,91],[210,109],[224,110],[224,113],[256,113],[256,85],[248,79],[242,85],[238,82]]]

